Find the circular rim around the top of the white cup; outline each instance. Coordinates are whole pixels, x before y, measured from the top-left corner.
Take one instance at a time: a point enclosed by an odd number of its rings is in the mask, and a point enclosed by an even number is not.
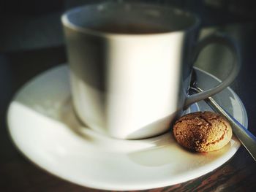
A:
[[[127,6],[130,6],[130,5],[132,5],[132,6],[151,6],[151,7],[159,7],[161,9],[170,9],[170,10],[174,11],[175,13],[178,12],[179,14],[182,13],[183,15],[193,17],[195,22],[192,23],[187,28],[176,30],[176,31],[166,31],[166,32],[149,33],[149,34],[128,34],[128,33],[113,33],[113,32],[107,32],[107,31],[97,31],[97,30],[89,28],[89,27],[81,27],[81,26],[75,25],[74,23],[70,22],[70,20],[68,19],[69,14],[72,14],[73,12],[78,12],[80,9],[83,9],[84,7],[104,6],[104,5],[111,6],[111,5],[116,5],[116,4],[120,4],[120,3],[105,2],[105,3],[96,3],[96,4],[86,4],[83,6],[74,7],[72,9],[67,10],[66,12],[64,12],[61,15],[61,23],[63,26],[71,28],[75,31],[79,31],[84,34],[91,34],[91,35],[99,36],[99,37],[152,37],[152,36],[158,37],[158,36],[174,34],[176,32],[181,32],[181,31],[192,31],[193,29],[200,26],[200,19],[197,17],[197,15],[195,15],[192,12],[187,12],[185,10],[178,9],[177,7],[163,7],[163,6],[157,5],[157,4],[145,4],[145,3],[135,3],[135,2],[132,2],[132,3],[122,2],[122,4],[127,5]]]

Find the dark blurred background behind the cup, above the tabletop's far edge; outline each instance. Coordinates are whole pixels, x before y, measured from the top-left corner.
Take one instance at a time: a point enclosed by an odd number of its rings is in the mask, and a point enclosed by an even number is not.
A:
[[[108,0],[105,0],[108,1]],[[0,51],[31,50],[63,45],[60,15],[67,9],[104,0],[1,0]],[[111,0],[109,0],[111,1]],[[118,0],[116,0],[118,1]],[[119,0],[120,1],[120,0]],[[175,6],[195,12],[203,27],[221,26],[222,30],[245,32],[238,28],[225,29],[235,23],[255,22],[255,4],[241,0],[123,0]],[[243,34],[240,34],[243,36]],[[248,35],[246,35],[248,36]]]

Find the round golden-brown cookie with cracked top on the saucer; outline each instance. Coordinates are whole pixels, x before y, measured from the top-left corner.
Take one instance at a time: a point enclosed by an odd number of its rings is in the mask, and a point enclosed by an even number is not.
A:
[[[192,112],[179,118],[173,126],[176,141],[197,152],[219,150],[232,137],[230,123],[214,112]]]

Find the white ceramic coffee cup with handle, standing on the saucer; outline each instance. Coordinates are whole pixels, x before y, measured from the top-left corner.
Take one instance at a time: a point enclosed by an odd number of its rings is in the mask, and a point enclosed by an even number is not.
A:
[[[238,74],[233,42],[213,35],[197,43],[198,18],[179,9],[92,4],[71,9],[61,19],[75,112],[110,137],[162,134],[185,106],[222,91]],[[217,87],[189,96],[192,63],[212,42],[230,48],[233,70]]]

